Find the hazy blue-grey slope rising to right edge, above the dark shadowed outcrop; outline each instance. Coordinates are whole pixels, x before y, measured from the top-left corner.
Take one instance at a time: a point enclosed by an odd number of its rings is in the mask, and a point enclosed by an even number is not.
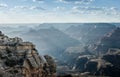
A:
[[[110,48],[120,48],[120,28],[116,28],[110,32],[107,36],[102,38],[99,44],[96,46],[95,51],[102,54],[107,53]]]

